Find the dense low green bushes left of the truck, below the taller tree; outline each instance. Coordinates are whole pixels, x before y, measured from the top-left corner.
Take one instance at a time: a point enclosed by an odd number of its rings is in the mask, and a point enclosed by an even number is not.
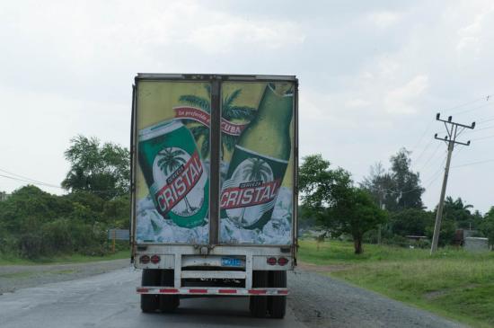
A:
[[[86,191],[57,196],[22,187],[0,202],[0,253],[32,260],[70,253],[104,255],[109,251],[108,227],[130,226],[129,201],[128,195],[105,200]]]

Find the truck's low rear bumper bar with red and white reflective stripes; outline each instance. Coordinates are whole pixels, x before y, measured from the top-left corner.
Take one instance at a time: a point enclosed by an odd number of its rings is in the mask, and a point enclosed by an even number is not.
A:
[[[287,296],[287,288],[173,288],[138,287],[137,294],[159,295],[223,295],[223,296]]]

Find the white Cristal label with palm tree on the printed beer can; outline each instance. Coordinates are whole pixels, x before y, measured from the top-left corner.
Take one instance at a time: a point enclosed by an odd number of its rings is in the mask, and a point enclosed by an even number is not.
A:
[[[180,217],[196,214],[204,201],[203,173],[197,150],[192,155],[179,147],[159,152],[154,157],[154,184],[150,190],[160,212],[166,215],[172,211]]]

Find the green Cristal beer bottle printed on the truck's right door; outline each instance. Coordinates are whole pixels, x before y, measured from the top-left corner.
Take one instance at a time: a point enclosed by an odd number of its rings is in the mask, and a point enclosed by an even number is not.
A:
[[[290,158],[293,84],[271,83],[235,145],[220,197],[221,217],[245,229],[268,223]]]

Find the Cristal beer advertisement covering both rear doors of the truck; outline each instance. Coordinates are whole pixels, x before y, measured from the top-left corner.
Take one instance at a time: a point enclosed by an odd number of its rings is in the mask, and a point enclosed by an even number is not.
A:
[[[220,244],[291,244],[294,84],[220,84],[220,149],[210,149],[209,82],[137,87],[136,239],[209,242],[211,151],[219,152]]]

